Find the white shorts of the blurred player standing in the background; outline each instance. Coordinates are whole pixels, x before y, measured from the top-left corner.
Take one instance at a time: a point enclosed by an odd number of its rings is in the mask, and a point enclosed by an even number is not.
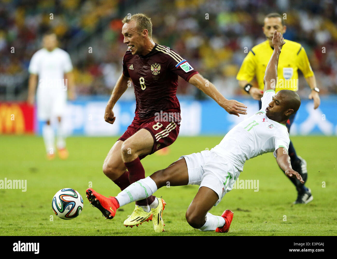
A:
[[[67,92],[59,89],[37,88],[36,103],[39,120],[62,117],[66,107]]]

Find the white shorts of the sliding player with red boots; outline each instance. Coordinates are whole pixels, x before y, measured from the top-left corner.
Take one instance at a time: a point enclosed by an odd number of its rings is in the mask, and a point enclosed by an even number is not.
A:
[[[184,155],[179,159],[183,157],[187,163],[188,184],[205,186],[215,191],[219,199],[214,206],[232,190],[240,175],[240,171],[231,162],[211,150]]]

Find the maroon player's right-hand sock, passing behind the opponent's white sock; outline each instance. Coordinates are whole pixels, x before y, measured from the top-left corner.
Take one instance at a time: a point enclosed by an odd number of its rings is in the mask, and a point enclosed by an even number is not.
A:
[[[136,159],[134,159],[131,162],[126,162],[124,164],[125,164],[127,170],[129,171],[130,184],[145,178],[145,170],[144,170],[144,167],[143,167],[139,157],[137,157]],[[150,201],[151,200],[152,201],[148,203],[149,198],[150,198]],[[155,196],[151,195],[150,197],[148,197],[146,199],[136,201],[136,205],[147,206],[147,205],[151,204],[154,201],[154,199],[155,199]]]

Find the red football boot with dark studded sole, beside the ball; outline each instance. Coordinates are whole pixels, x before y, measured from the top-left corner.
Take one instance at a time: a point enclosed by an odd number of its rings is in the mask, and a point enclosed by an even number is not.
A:
[[[86,194],[92,207],[99,209],[105,219],[112,219],[115,217],[116,211],[119,208],[119,202],[115,197],[105,197],[102,194],[95,192],[92,188],[87,189]]]

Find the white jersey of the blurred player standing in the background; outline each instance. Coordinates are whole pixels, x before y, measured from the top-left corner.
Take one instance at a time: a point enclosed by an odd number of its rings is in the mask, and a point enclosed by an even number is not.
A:
[[[66,90],[64,74],[72,70],[69,54],[60,48],[36,51],[30,61],[28,71],[37,74],[40,88],[60,88]]]

